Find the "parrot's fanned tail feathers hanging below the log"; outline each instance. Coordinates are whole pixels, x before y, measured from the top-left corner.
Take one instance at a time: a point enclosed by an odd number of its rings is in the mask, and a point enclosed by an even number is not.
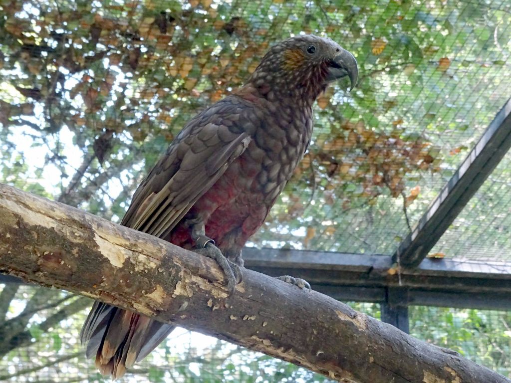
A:
[[[146,357],[173,329],[173,325],[96,301],[80,340],[87,343],[87,357],[96,355],[101,374],[115,379]]]

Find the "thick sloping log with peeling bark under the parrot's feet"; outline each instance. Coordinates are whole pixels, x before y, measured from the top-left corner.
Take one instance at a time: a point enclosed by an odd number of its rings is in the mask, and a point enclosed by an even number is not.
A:
[[[172,322],[342,382],[511,380],[349,306],[0,184],[0,272]],[[78,334],[77,334],[78,336]]]

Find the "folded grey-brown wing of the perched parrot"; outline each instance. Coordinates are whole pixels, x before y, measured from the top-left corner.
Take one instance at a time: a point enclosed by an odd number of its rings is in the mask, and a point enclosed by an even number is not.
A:
[[[165,237],[250,142],[228,97],[192,119],[136,190],[122,225]]]

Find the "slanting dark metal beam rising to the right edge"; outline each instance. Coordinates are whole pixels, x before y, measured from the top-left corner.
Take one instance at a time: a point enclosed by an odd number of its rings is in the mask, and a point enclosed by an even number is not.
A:
[[[416,267],[477,192],[484,180],[511,148],[511,99],[458,167],[456,173],[429,206],[413,231],[403,240],[394,262]]]

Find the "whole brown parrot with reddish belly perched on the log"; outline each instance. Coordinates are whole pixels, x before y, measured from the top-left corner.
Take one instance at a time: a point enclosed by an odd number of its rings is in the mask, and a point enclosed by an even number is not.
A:
[[[331,39],[299,35],[275,44],[245,85],[184,126],[138,186],[121,224],[216,259],[233,293],[243,246],[309,145],[314,101],[344,77],[353,89],[357,61]],[[96,301],[80,339],[100,372],[116,378],[173,328]]]

